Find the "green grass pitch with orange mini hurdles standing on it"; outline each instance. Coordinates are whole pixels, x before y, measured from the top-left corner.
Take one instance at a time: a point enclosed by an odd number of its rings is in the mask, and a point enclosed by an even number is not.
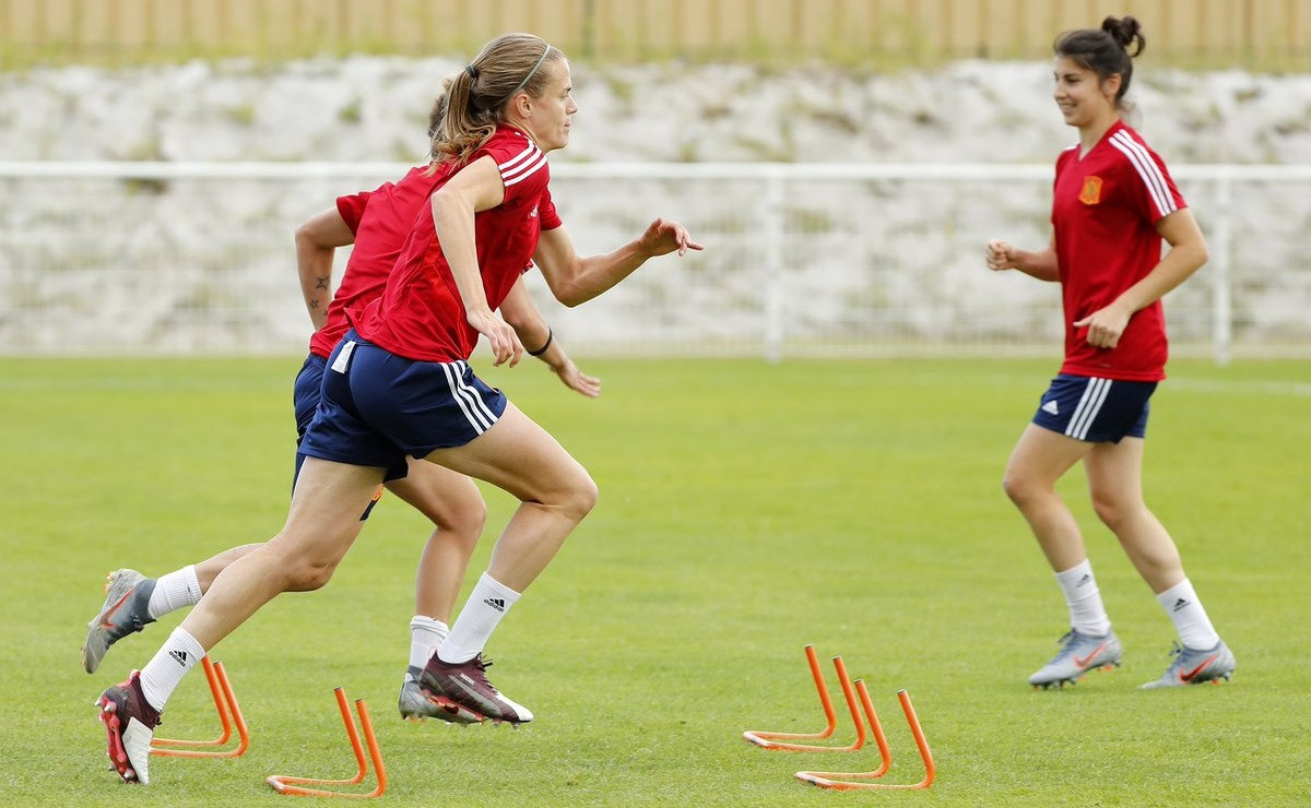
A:
[[[1171,691],[1135,689],[1164,669],[1173,631],[1096,524],[1078,473],[1063,491],[1125,664],[1065,691],[1025,685],[1066,615],[999,481],[1054,361],[581,364],[604,380],[599,401],[531,361],[486,373],[602,488],[488,648],[493,681],[536,722],[399,720],[426,528],[384,499],[329,587],[278,598],[214,651],[249,720],[249,752],[156,758],[140,788],[106,770],[92,701],[181,614],[119,643],[96,676],[79,664],[85,621],[108,570],[159,575],[277,532],[299,359],[0,360],[0,800],[284,804],[266,775],[354,770],[337,685],[368,702],[391,804],[1311,800],[1307,363],[1177,361],[1155,397],[1147,499],[1239,660],[1226,686]],[[486,498],[473,570],[511,508],[499,491]],[[827,657],[840,653],[869,684],[893,782],[922,777],[894,695],[909,689],[937,760],[931,790],[825,792],[792,773],[868,770],[877,752],[742,741],[743,729],[822,725],[806,643],[830,681]],[[203,676],[164,719],[161,735],[216,733]],[[836,735],[850,740],[850,723]]]

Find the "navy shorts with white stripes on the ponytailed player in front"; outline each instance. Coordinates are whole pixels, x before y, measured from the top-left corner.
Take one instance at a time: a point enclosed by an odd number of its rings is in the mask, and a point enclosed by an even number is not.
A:
[[[467,361],[402,359],[350,330],[324,371],[321,399],[302,454],[387,470],[400,479],[408,457],[463,447],[505,413],[505,393]]]

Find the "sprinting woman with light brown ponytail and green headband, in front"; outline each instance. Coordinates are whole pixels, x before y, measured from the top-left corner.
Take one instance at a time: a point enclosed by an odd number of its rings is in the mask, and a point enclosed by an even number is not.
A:
[[[467,360],[480,335],[494,364],[522,358],[514,330],[493,312],[530,261],[558,300],[577,305],[649,258],[701,249],[682,225],[657,219],[612,253],[577,254],[551,200],[545,158],[569,143],[578,109],[570,90],[564,54],[528,34],[498,37],[448,80],[431,216],[417,220],[383,296],[350,313],[355,327],[328,359],[286,524],[220,572],[146,668],[98,701],[125,779],[148,780],[160,711],[190,667],[273,597],[326,583],[378,485],[404,477],[408,457],[520,500],[421,688],[494,722],[532,719],[488,681],[481,651],[590,512],[597,486]]]

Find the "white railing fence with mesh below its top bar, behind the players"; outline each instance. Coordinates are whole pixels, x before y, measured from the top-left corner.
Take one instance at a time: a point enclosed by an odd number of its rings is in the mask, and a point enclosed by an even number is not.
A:
[[[0,354],[303,351],[295,225],[408,168],[0,161]],[[982,263],[991,237],[1046,242],[1047,165],[561,162],[552,173],[585,254],[657,215],[707,244],[577,309],[535,280],[576,354],[1059,350],[1055,287]],[[1176,354],[1311,355],[1311,166],[1173,173],[1211,246],[1210,265],[1167,300]]]

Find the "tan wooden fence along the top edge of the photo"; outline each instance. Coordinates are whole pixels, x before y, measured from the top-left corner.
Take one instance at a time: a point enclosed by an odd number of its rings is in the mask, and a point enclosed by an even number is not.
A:
[[[0,0],[0,68],[52,58],[472,55],[507,30],[589,60],[1033,59],[1059,31],[1124,13],[1142,20],[1148,62],[1311,68],[1311,0]]]

